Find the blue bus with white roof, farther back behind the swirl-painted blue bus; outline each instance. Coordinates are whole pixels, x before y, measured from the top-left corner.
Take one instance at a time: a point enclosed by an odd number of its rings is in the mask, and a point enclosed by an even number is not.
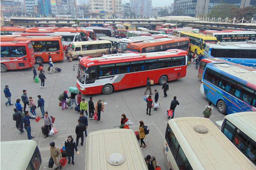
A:
[[[256,67],[256,41],[206,44],[203,55]]]

